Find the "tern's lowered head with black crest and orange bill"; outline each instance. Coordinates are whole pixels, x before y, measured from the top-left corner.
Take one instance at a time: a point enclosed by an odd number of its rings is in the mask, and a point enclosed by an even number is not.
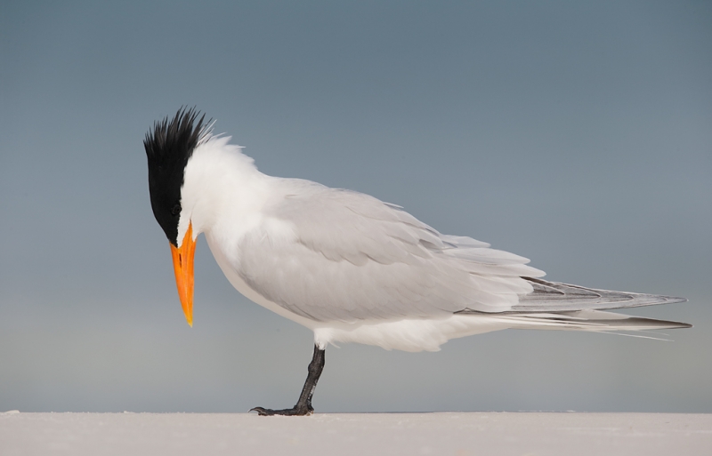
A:
[[[205,115],[181,108],[146,133],[143,147],[149,162],[150,205],[171,245],[175,282],[183,313],[193,325],[193,258],[198,232],[193,232],[190,211],[183,210],[185,168],[193,150],[210,137]]]

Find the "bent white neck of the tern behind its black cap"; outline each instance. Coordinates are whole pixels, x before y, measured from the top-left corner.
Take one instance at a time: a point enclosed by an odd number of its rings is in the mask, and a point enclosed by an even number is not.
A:
[[[185,166],[181,189],[178,239],[192,224],[193,236],[219,223],[249,223],[259,214],[269,187],[269,176],[257,171],[252,158],[230,137],[211,138],[198,145]]]

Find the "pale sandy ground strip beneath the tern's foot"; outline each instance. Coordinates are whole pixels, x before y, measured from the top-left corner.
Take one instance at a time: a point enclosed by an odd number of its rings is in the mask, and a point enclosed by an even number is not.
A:
[[[0,413],[0,454],[712,454],[712,414]]]

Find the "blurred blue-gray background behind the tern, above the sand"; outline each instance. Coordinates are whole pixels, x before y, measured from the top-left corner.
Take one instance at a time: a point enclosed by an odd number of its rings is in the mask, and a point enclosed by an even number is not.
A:
[[[293,404],[312,333],[198,242],[194,327],[142,138],[182,105],[261,171],[352,188],[555,281],[684,296],[675,342],[329,348],[321,412],[712,412],[712,4],[4,2],[0,410]]]

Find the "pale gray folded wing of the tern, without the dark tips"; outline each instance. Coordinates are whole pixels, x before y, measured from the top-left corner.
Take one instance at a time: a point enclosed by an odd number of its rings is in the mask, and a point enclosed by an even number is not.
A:
[[[238,273],[297,315],[352,322],[503,312],[533,291],[522,276],[544,275],[525,258],[442,235],[372,196],[304,180],[284,185],[262,226],[241,240]]]

